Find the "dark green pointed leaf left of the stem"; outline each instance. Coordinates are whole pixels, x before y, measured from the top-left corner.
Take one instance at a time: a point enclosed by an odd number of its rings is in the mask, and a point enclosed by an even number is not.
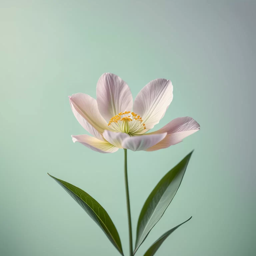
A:
[[[51,176],[48,173],[49,176]],[[87,212],[87,214],[99,225],[111,243],[123,255],[122,244],[114,223],[105,209],[89,194],[82,189],[60,179],[51,176],[60,184],[68,194]]]

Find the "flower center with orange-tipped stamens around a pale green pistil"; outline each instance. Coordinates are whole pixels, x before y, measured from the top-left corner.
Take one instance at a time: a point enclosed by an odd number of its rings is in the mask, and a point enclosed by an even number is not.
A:
[[[143,120],[137,114],[131,111],[125,111],[111,117],[108,126],[115,132],[123,132],[132,135],[146,129],[145,124],[142,124],[142,122]]]

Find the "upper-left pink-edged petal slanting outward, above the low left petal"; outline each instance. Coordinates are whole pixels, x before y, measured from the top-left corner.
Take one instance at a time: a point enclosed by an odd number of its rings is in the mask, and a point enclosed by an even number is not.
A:
[[[84,93],[69,96],[69,103],[77,121],[94,137],[103,140],[102,133],[108,129],[107,122],[101,116],[97,101]]]

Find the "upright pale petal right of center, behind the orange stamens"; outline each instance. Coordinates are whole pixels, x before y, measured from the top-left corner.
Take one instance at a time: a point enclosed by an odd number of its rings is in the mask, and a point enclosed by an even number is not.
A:
[[[170,80],[155,79],[138,93],[134,100],[133,112],[140,115],[146,129],[152,129],[164,116],[173,98]]]

